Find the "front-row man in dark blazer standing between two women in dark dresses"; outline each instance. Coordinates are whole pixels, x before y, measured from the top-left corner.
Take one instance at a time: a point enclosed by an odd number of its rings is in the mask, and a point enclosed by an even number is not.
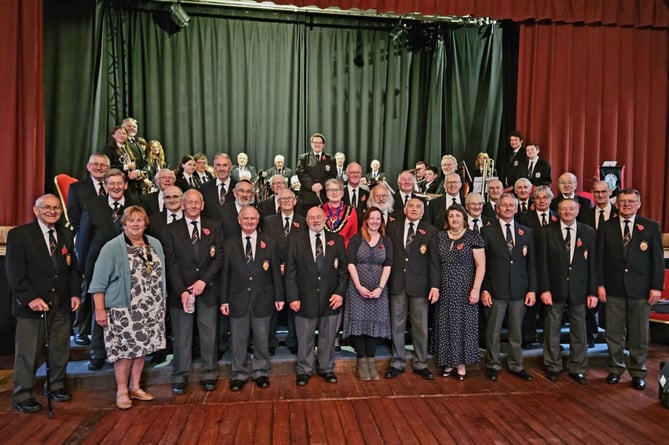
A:
[[[393,265],[390,272],[390,323],[392,328],[392,357],[385,374],[397,377],[406,366],[404,333],[407,314],[411,314],[414,373],[426,380],[434,375],[427,366],[427,330],[430,303],[439,299],[439,274],[430,271],[432,237],[436,227],[421,221],[425,204],[411,198],[404,207],[404,217],[388,224],[387,234],[393,243]]]

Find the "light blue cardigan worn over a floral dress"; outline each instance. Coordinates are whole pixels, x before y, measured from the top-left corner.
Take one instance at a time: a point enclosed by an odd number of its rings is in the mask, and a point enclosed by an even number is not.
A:
[[[165,285],[165,253],[160,241],[152,236],[147,236],[149,244],[158,254],[162,264],[161,281],[163,285],[163,299],[167,300]],[[105,307],[130,307],[130,264],[128,262],[128,251],[126,249],[124,234],[111,239],[102,247],[100,256],[95,262],[93,278],[88,287],[88,292],[94,294],[102,292],[105,294]]]

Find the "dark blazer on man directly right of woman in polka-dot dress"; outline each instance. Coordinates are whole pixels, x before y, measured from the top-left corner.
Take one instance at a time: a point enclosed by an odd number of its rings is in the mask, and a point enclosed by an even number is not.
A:
[[[490,292],[494,299],[524,300],[528,292],[537,291],[534,233],[517,222],[514,230],[515,243],[511,252],[499,223],[481,230],[486,254],[486,274],[481,290]]]

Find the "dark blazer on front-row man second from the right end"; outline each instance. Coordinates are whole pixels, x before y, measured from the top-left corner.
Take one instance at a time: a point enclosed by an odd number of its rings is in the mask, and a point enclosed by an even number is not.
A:
[[[588,295],[597,295],[597,235],[579,222],[575,228],[576,233],[571,234],[576,238],[571,262],[559,221],[548,224],[539,234],[539,292],[550,291],[554,305],[586,304]]]

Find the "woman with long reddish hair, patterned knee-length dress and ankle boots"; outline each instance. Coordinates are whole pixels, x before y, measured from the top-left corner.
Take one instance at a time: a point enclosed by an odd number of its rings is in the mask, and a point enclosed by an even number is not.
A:
[[[378,380],[376,343],[390,338],[388,278],[393,245],[386,237],[381,211],[370,207],[360,232],[353,235],[346,253],[350,283],[344,307],[344,337],[351,337],[358,356],[361,380]]]

